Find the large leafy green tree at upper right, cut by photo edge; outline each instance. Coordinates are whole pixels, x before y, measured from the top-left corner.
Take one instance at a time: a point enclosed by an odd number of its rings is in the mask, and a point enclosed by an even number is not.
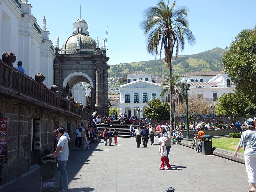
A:
[[[256,26],[241,31],[231,42],[222,62],[224,72],[231,77],[236,89],[256,102]]]

